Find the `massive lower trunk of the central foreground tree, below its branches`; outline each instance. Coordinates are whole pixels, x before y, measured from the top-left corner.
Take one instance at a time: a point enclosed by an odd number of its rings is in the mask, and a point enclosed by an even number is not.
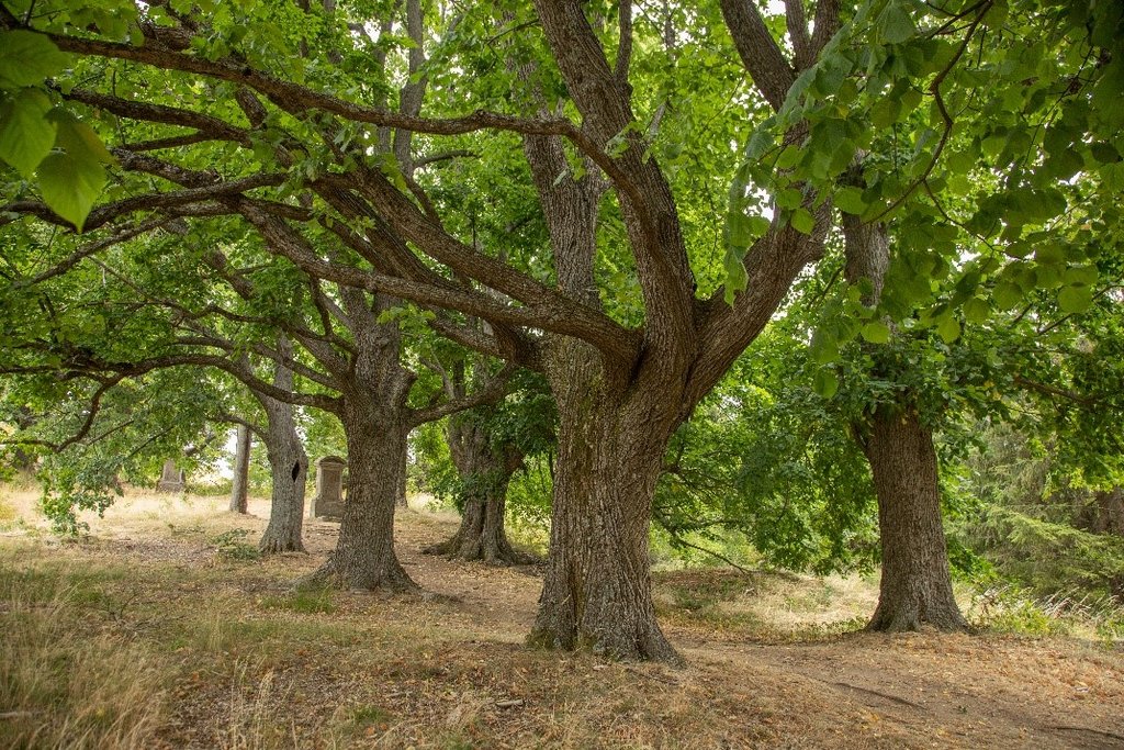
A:
[[[678,662],[652,602],[649,526],[678,400],[606,386],[596,354],[555,343],[559,457],[551,549],[529,642]],[[636,383],[633,383],[636,386]]]

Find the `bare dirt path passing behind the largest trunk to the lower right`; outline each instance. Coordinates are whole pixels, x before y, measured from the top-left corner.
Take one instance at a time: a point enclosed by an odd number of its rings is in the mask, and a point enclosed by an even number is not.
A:
[[[456,597],[504,640],[527,632],[541,586],[533,570],[420,555],[417,549],[452,526],[408,528],[400,553],[424,587]],[[1124,665],[1094,644],[937,633],[708,643],[673,627],[669,635],[692,669],[735,684],[799,687],[819,696],[824,713],[861,716],[872,738],[918,747],[1124,748]]]

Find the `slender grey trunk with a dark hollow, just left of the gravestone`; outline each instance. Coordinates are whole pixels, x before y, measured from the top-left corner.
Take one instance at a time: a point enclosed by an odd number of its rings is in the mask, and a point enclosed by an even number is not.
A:
[[[270,523],[257,544],[264,554],[303,552],[305,486],[308,455],[297,433],[292,405],[272,398],[260,399],[268,417],[265,449],[273,479]]]

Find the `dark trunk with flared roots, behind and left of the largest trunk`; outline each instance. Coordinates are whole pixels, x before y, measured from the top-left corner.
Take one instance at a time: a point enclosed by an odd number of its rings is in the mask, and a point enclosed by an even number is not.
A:
[[[497,448],[477,421],[454,416],[446,427],[448,451],[463,486],[461,527],[426,554],[445,554],[489,564],[518,564],[529,558],[511,549],[504,528],[504,510],[511,475],[523,464],[514,445]]]

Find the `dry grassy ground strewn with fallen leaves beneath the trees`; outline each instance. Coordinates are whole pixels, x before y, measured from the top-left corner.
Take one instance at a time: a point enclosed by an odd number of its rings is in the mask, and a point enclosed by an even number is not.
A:
[[[1118,642],[854,631],[869,580],[661,572],[681,669],[523,644],[540,570],[423,555],[451,514],[399,514],[425,590],[293,588],[223,498],[128,495],[46,533],[0,487],[0,746],[98,748],[1121,748]]]

